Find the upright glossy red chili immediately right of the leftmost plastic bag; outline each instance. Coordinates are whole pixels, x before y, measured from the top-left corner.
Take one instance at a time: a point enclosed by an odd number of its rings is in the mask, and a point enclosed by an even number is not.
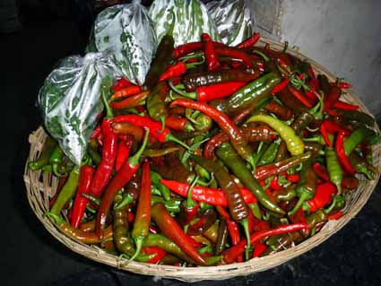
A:
[[[95,171],[90,188],[90,194],[94,196],[100,196],[103,189],[108,185],[117,158],[117,134],[112,130],[113,122],[113,118],[104,118],[101,124],[102,160]]]

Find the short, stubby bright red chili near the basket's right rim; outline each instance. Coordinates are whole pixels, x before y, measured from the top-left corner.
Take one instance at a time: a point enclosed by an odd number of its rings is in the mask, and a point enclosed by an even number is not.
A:
[[[316,186],[316,192],[313,199],[306,202],[303,208],[307,208],[309,212],[316,212],[323,208],[326,204],[331,203],[333,195],[337,193],[336,186],[331,182],[325,182]]]

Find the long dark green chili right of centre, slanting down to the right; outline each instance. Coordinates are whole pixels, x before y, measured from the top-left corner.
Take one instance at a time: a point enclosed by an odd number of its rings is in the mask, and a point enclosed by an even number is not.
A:
[[[220,148],[217,149],[216,154],[233,174],[239,178],[242,184],[255,195],[259,203],[272,212],[284,213],[284,211],[273,203],[264,193],[262,186],[255,180],[251,172],[246,168],[245,162],[239,158],[238,153],[229,143],[222,143]]]

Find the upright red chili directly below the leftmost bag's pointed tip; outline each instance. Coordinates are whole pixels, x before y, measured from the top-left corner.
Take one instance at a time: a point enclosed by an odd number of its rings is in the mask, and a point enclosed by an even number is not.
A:
[[[78,180],[78,188],[74,198],[73,213],[71,224],[74,228],[78,228],[82,221],[83,213],[86,210],[86,205],[89,202],[82,194],[88,193],[91,186],[91,180],[94,176],[94,168],[90,165],[83,165],[80,170],[80,178]]]

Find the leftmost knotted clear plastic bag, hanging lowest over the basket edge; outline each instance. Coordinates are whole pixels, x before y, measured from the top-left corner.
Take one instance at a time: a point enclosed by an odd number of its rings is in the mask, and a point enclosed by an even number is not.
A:
[[[101,82],[121,76],[113,58],[105,53],[68,56],[39,90],[38,105],[45,127],[75,164],[81,164],[97,116],[103,110]]]

